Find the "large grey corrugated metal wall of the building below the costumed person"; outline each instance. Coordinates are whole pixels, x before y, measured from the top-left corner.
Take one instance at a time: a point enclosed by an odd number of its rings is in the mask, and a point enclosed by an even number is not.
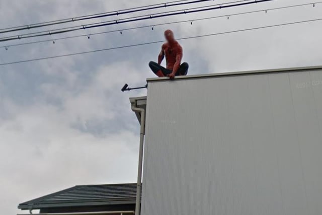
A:
[[[142,214],[322,214],[322,72],[150,82]]]

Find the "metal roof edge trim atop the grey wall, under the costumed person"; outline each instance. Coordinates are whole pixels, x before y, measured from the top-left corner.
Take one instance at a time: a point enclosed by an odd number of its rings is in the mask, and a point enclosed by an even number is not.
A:
[[[264,74],[264,73],[283,73],[283,72],[285,73],[288,71],[317,70],[317,69],[322,69],[322,65],[291,67],[291,68],[260,69],[260,70],[248,70],[248,71],[232,71],[232,72],[226,72],[226,73],[211,73],[211,74],[201,74],[201,75],[191,75],[191,76],[177,76],[175,80],[211,78],[211,77],[222,77],[222,76],[252,75],[252,74]],[[147,82],[166,81],[166,80],[169,80],[169,78],[162,77],[162,78],[146,79]]]

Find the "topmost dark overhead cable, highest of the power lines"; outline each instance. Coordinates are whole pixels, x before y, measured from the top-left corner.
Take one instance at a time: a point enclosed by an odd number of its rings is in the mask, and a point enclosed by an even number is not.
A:
[[[122,15],[122,14],[130,14],[130,13],[134,13],[134,12],[148,11],[148,10],[167,8],[167,7],[173,7],[173,6],[183,6],[183,5],[189,5],[189,4],[209,2],[209,1],[214,1],[214,0],[195,0],[192,2],[188,2],[188,1],[190,1],[190,0],[180,0],[180,1],[174,1],[174,2],[168,2],[168,3],[160,3],[160,4],[154,4],[154,5],[148,5],[148,6],[141,6],[141,7],[131,8],[131,9],[123,9],[123,10],[119,10],[119,11],[111,11],[111,12],[106,12],[106,13],[73,17],[73,18],[67,18],[67,19],[61,19],[61,20],[55,20],[55,21],[49,21],[49,22],[35,23],[35,24],[30,24],[30,25],[3,28],[3,29],[0,29],[0,33],[29,30],[29,29],[33,29],[33,28],[40,28],[40,27],[45,27],[45,26],[58,25],[58,24],[76,22],[76,21],[81,21],[81,20],[90,20],[90,19],[97,19],[97,18],[103,18],[103,17],[118,16],[118,15]]]

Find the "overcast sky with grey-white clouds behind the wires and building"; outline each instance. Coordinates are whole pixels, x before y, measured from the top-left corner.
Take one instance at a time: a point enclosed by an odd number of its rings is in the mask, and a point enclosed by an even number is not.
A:
[[[228,1],[211,1],[218,4]],[[82,30],[91,34],[164,22],[193,20],[303,3],[275,0],[252,6],[139,21]],[[160,0],[0,0],[0,28],[120,10]],[[199,4],[196,6],[203,6]],[[184,8],[196,7],[186,6]],[[179,7],[180,8],[180,7]],[[155,10],[156,13],[178,8]],[[178,38],[322,18],[322,4],[93,35],[0,49],[0,63],[121,45],[163,40],[164,30]],[[136,13],[135,15],[147,12]],[[127,15],[133,16],[133,15]],[[123,17],[127,17],[123,16]],[[105,18],[99,21],[111,20]],[[86,21],[83,23],[95,22]],[[78,24],[78,23],[77,23]],[[322,64],[322,21],[182,40],[189,74]],[[69,24],[70,25],[70,24]],[[76,25],[73,23],[72,25]],[[68,25],[66,25],[68,26]],[[52,29],[47,27],[45,30]],[[27,33],[28,31],[26,31]],[[16,34],[16,33],[14,33]],[[6,34],[7,35],[7,34]],[[4,34],[0,35],[6,36]],[[10,35],[10,34],[8,34]],[[43,38],[42,38],[43,39]],[[0,46],[36,39],[0,43]],[[139,123],[125,83],[145,85],[154,77],[147,66],[161,44],[0,66],[0,202],[2,214],[19,212],[21,202],[81,184],[135,182]],[[20,211],[21,212],[21,211]]]

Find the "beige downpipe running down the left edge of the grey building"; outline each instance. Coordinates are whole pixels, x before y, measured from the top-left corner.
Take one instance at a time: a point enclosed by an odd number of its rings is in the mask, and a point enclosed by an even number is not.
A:
[[[137,171],[137,185],[136,185],[136,201],[135,201],[135,215],[140,214],[141,209],[141,189],[142,189],[142,165],[143,165],[143,144],[144,144],[144,131],[145,131],[145,110],[143,108],[137,108],[132,104],[131,106],[134,112],[141,114],[141,127],[140,127],[140,146],[139,146],[139,166]]]

